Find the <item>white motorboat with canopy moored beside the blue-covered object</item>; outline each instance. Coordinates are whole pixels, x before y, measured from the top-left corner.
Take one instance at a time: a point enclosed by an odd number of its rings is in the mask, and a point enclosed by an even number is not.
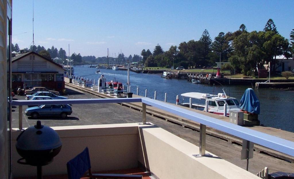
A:
[[[206,111],[206,101],[208,101],[208,112],[223,115],[224,105],[227,104],[227,115],[229,115],[230,110],[240,110],[240,104],[236,98],[229,97],[224,93],[218,93],[218,95],[212,95],[208,93],[183,93],[183,101],[180,104],[181,106],[189,107],[190,103],[184,103],[184,98],[193,98],[197,99],[198,103],[192,103],[192,108],[198,109],[201,111]]]

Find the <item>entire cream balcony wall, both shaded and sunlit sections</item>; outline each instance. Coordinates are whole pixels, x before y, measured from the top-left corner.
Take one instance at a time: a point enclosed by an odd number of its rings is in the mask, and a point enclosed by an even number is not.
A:
[[[61,152],[43,166],[43,175],[66,174],[66,163],[89,148],[92,171],[137,168],[138,161],[160,179],[258,178],[242,168],[214,157],[195,158],[199,148],[154,125],[137,123],[52,127],[61,137]],[[12,131],[13,177],[36,176],[36,167],[21,165]],[[209,153],[206,151],[206,153]]]

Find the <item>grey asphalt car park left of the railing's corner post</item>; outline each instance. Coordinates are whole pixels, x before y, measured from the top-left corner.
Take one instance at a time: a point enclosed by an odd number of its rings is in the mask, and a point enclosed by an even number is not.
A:
[[[69,99],[91,99],[97,96],[82,93],[72,88],[66,88],[66,97]],[[14,96],[14,100],[24,100],[26,96]],[[94,124],[114,124],[114,123],[136,123],[142,121],[142,114],[126,106],[116,103],[103,104],[73,104],[73,113],[67,118],[60,117],[38,117],[33,119],[26,116],[27,106],[23,106],[23,127],[35,125],[37,120],[47,126],[77,126]],[[19,107],[12,107],[12,128],[18,128]],[[148,121],[148,120],[147,120]]]

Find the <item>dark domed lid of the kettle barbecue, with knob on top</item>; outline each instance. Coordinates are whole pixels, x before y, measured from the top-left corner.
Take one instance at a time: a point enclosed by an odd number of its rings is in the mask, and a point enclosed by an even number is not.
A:
[[[41,121],[24,130],[16,139],[16,148],[20,150],[51,150],[62,145],[59,135]]]

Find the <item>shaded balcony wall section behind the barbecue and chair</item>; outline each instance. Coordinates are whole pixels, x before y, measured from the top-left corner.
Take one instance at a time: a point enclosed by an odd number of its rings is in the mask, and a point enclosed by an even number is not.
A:
[[[89,148],[92,171],[137,168],[138,125],[111,124],[91,126],[52,127],[62,141],[61,151],[54,161],[43,166],[43,175],[66,174],[66,163]],[[13,177],[36,176],[37,167],[21,165],[16,151],[16,138],[20,131],[12,131]]]

